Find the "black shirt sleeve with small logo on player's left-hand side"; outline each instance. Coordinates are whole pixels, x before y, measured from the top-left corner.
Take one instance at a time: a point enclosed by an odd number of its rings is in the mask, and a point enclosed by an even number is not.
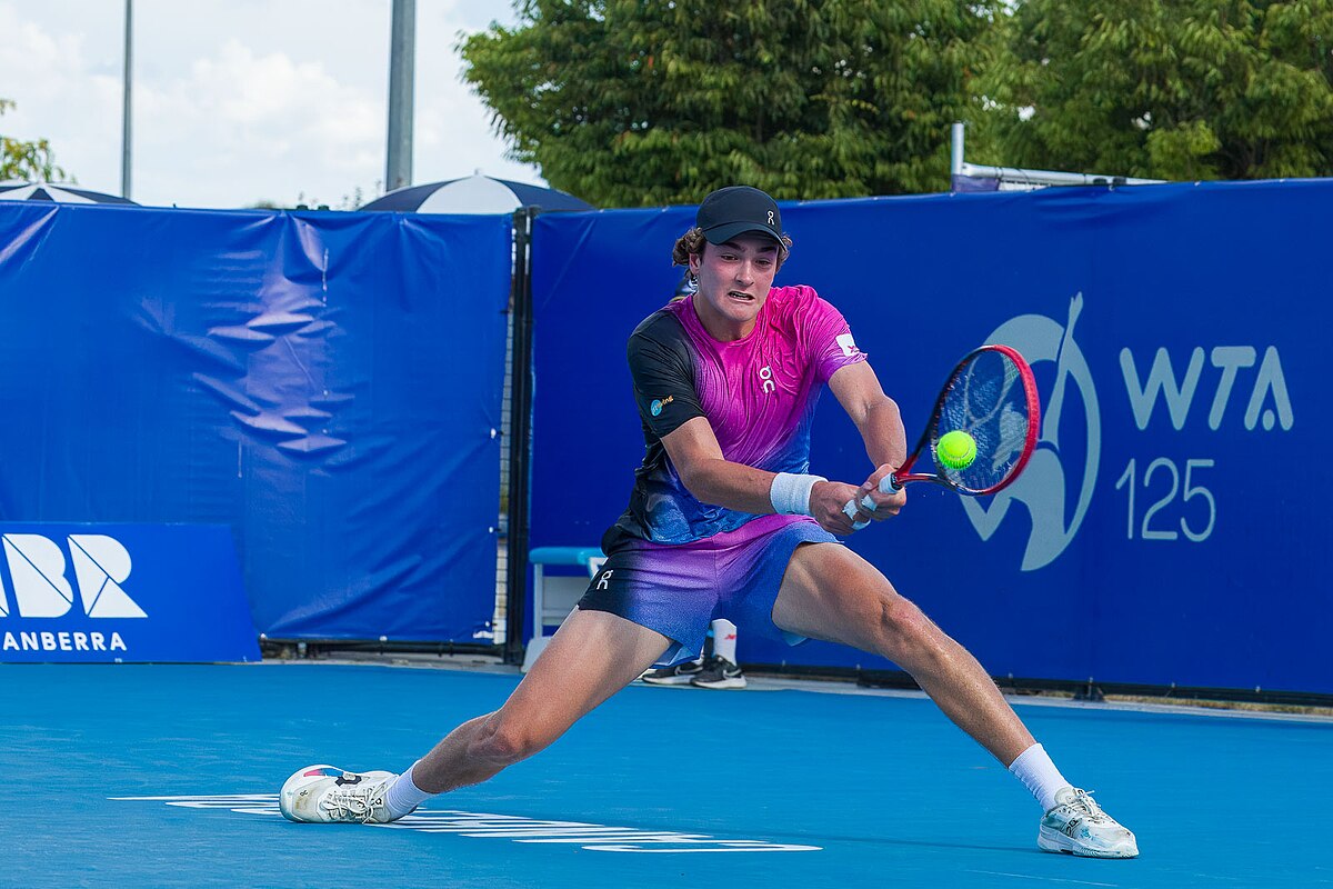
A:
[[[694,388],[694,355],[674,319],[664,317],[629,337],[628,357],[639,416],[655,436],[705,416]]]

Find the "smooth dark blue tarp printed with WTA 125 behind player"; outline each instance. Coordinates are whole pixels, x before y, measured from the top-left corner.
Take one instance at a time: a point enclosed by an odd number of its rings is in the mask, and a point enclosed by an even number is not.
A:
[[[916,486],[850,545],[993,674],[1333,692],[1333,181],[1064,188],[784,207],[782,284],[852,324],[913,440],[953,363],[1006,341],[1046,415],[1009,494]],[[680,280],[690,209],[539,217],[532,545],[595,544],[643,437],[625,339]],[[860,484],[825,393],[812,470]],[[757,662],[886,668],[740,632]]]

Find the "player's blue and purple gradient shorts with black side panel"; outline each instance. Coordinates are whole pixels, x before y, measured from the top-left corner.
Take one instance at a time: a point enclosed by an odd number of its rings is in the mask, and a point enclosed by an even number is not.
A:
[[[674,645],[663,664],[698,657],[708,625],[718,617],[744,633],[798,645],[804,636],[773,624],[786,564],[801,544],[836,542],[805,516],[761,516],[690,544],[635,541],[607,558],[579,608],[619,614],[666,636]]]

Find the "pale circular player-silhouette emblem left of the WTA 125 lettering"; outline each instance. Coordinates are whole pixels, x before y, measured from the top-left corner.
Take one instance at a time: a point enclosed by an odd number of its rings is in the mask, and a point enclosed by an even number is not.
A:
[[[989,540],[1004,522],[1014,502],[1022,504],[1032,518],[1032,532],[1022,553],[1022,570],[1037,570],[1053,562],[1069,546],[1088,514],[1097,484],[1101,461],[1101,411],[1097,387],[1082,351],[1074,341],[1074,325],[1082,312],[1082,293],[1069,300],[1064,324],[1044,315],[1021,315],[996,328],[986,343],[1002,343],[1018,349],[1037,369],[1050,361],[1054,381],[1050,397],[1042,405],[1041,436],[1037,450],[1018,480],[997,493],[989,504],[970,497],[962,508],[981,540]],[[1060,424],[1066,411],[1076,409],[1070,399],[1081,403],[1082,461],[1077,441],[1061,448]],[[1077,431],[1077,427],[1070,431]],[[1070,508],[1072,504],[1072,508]]]

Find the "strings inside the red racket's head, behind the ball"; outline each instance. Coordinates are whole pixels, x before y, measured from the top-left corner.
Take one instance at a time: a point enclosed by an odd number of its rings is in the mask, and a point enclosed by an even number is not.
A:
[[[1002,484],[1020,465],[1033,417],[1018,365],[1002,352],[978,352],[954,373],[941,404],[934,440],[966,432],[977,456],[961,469],[936,465],[949,481],[969,490]],[[932,441],[933,448],[933,441]]]

